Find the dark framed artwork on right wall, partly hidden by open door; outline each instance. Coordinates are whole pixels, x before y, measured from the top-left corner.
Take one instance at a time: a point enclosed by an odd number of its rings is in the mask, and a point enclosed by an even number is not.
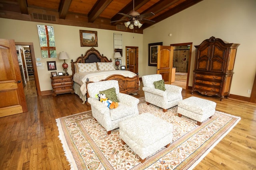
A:
[[[156,66],[158,45],[163,45],[163,42],[148,44],[148,66]]]

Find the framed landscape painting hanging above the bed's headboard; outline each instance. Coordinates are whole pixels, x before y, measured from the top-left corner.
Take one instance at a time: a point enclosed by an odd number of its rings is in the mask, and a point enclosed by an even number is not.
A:
[[[97,31],[80,30],[81,47],[98,47]]]

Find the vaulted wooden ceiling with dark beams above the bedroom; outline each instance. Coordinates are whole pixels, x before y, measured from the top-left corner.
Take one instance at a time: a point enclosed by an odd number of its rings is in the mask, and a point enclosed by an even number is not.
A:
[[[143,29],[200,1],[202,0],[0,0],[0,18],[143,33]],[[155,22],[143,20],[140,28],[126,28],[124,22],[128,18],[118,13],[128,14],[133,8],[140,15],[153,12],[154,16],[145,19]]]

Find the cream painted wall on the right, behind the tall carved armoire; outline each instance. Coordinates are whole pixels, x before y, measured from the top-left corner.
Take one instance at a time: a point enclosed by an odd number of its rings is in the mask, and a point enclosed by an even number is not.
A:
[[[203,0],[198,4],[143,32],[143,59],[148,61],[148,43],[163,45],[192,42],[189,86],[193,83],[195,47],[214,36],[229,43],[239,43],[230,94],[250,97],[256,74],[256,0]],[[168,36],[172,33],[172,36]],[[145,66],[140,76],[156,73]]]

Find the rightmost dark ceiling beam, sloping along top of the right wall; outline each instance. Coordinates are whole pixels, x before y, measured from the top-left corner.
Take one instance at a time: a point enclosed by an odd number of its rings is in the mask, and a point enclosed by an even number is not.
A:
[[[169,18],[170,16],[173,16],[174,14],[177,14],[187,8],[189,8],[190,6],[193,6],[195,4],[197,4],[198,2],[201,2],[203,0],[186,0],[184,2],[182,2],[181,4],[178,4],[177,6],[175,6],[174,8],[164,12],[163,14],[161,14],[160,16],[157,16],[155,18],[153,18],[154,21],[156,21],[155,23],[158,23],[162,20],[165,20],[166,18]],[[152,24],[149,23],[144,23],[142,25],[143,29],[150,27]]]

